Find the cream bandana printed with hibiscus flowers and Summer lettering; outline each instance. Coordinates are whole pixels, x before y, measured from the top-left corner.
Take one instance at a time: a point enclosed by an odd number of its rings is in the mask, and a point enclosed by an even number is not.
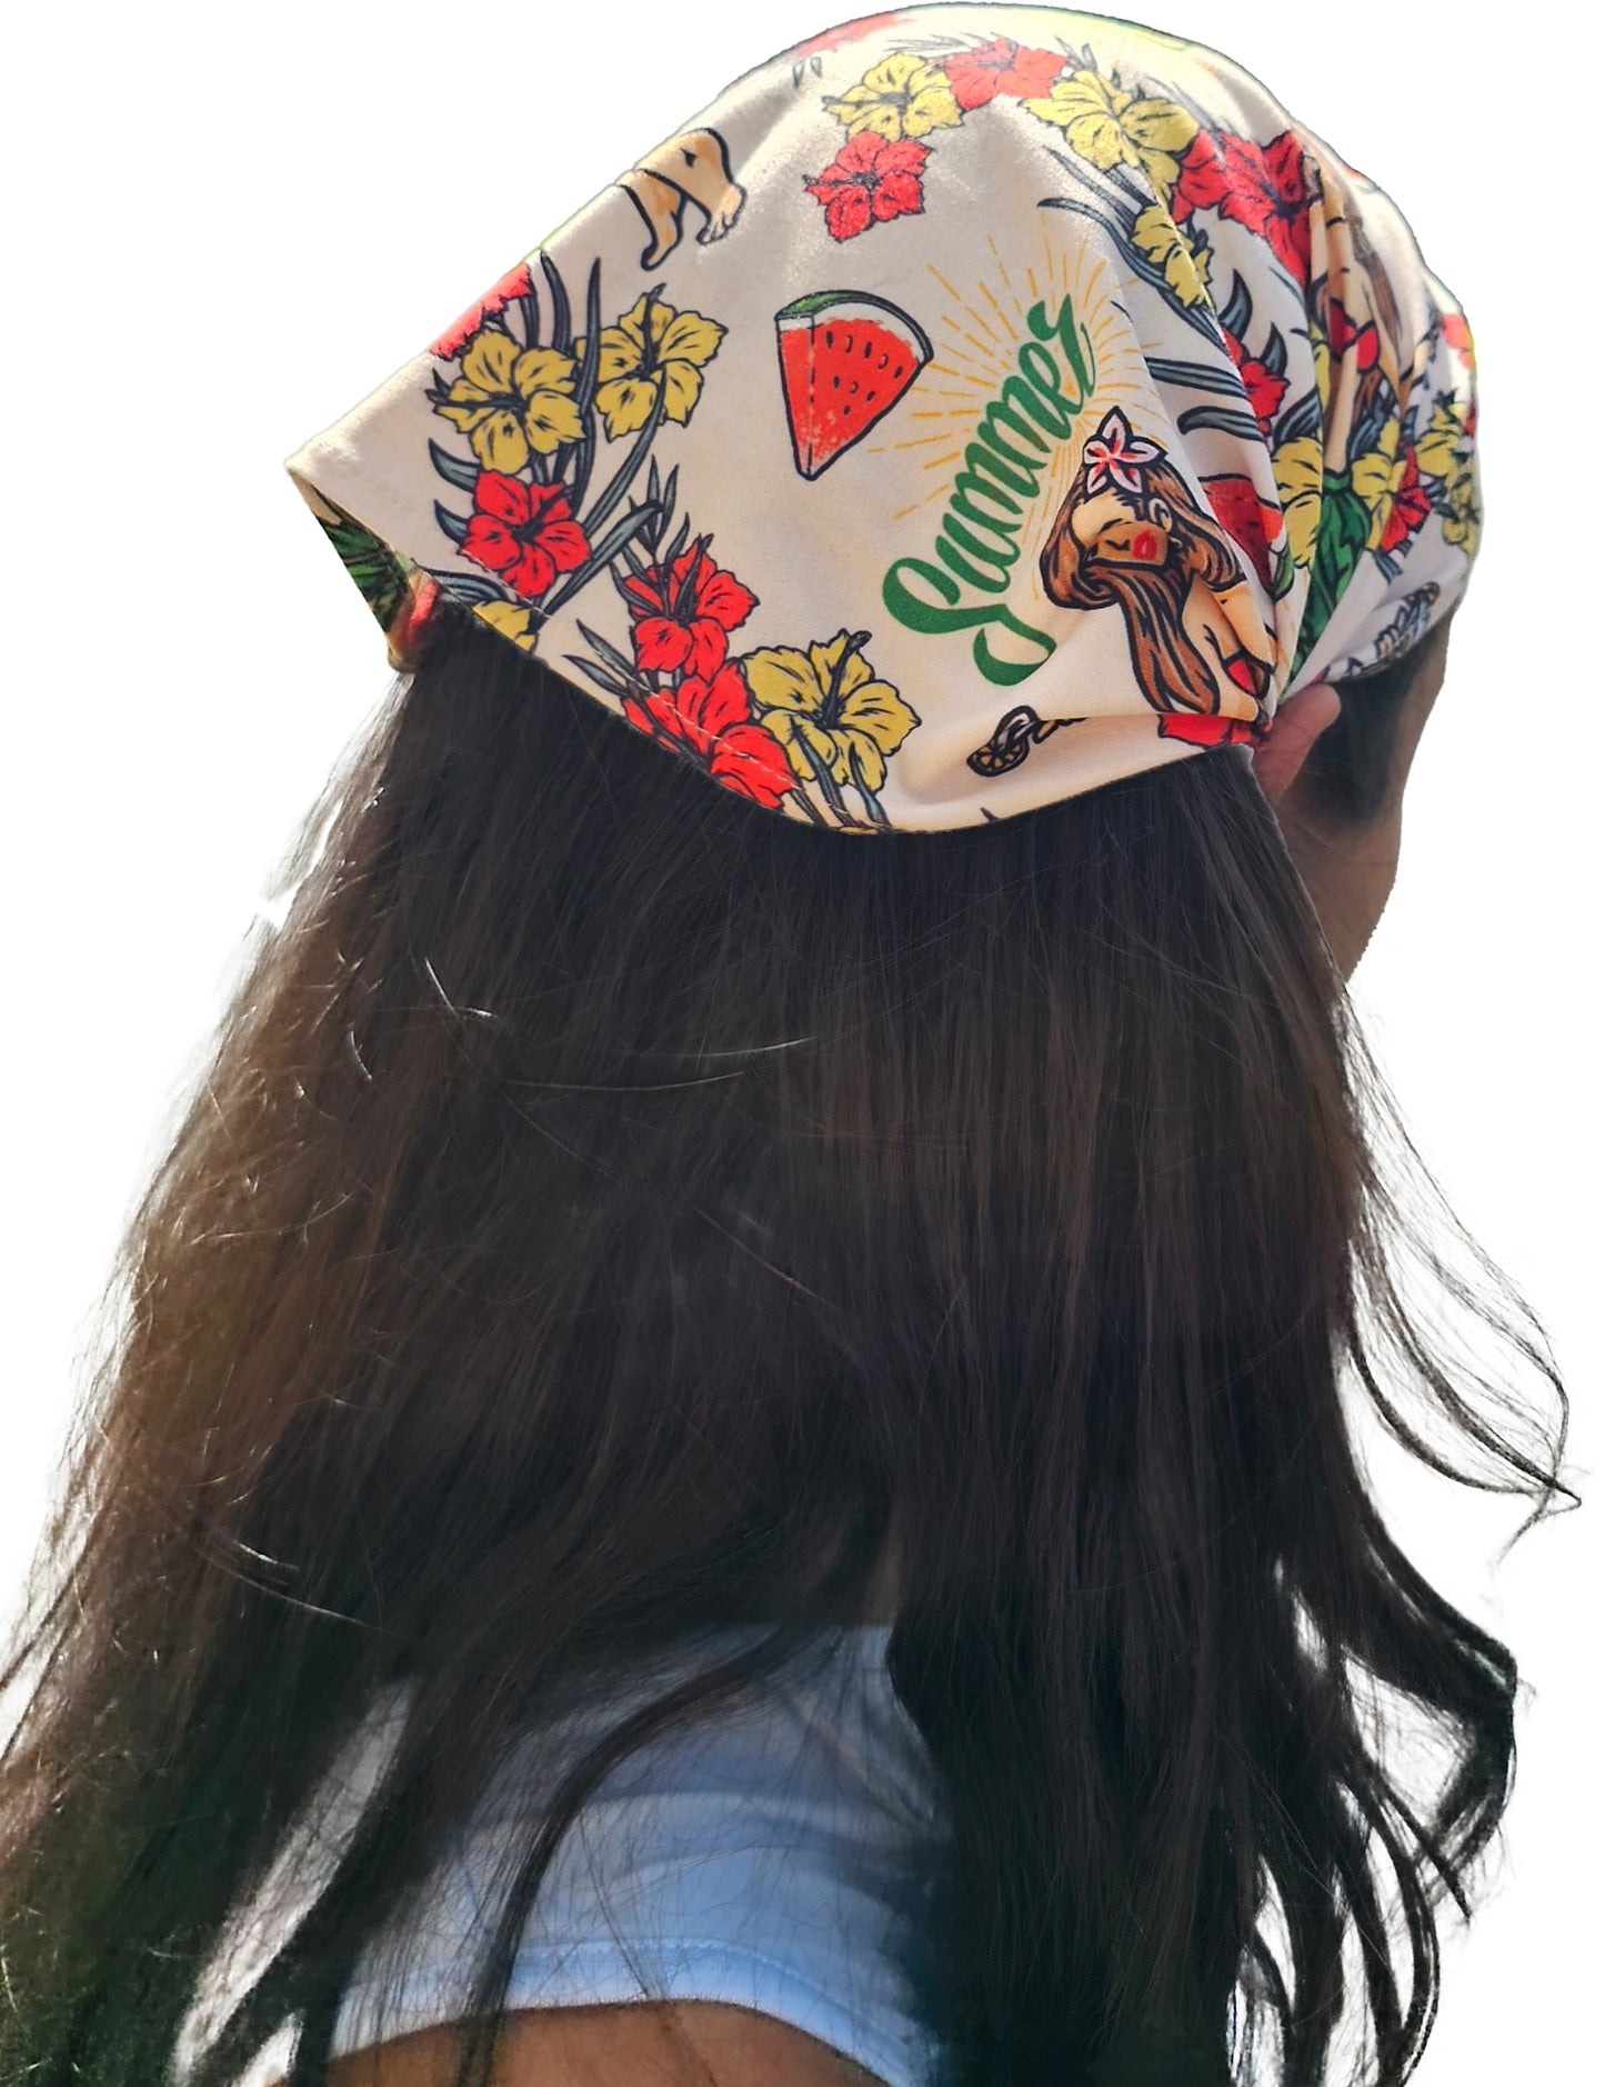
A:
[[[1252,743],[1453,607],[1471,336],[1231,61],[918,6],[745,73],[288,459],[401,664],[440,595],[787,818],[1008,818]]]

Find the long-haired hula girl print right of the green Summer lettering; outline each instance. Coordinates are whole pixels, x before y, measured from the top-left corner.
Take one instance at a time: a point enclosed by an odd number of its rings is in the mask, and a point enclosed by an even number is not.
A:
[[[1041,551],[1041,582],[1064,609],[1125,616],[1154,710],[1259,720],[1273,639],[1231,538],[1119,407],[1087,440]]]

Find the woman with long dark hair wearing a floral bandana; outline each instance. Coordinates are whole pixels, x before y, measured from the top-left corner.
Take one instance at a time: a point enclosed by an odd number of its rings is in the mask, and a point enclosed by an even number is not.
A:
[[[1248,75],[935,6],[292,459],[405,672],[127,1242],[6,2079],[1409,2074],[1515,1668],[1344,1388],[1559,1492],[1342,989],[1474,434]],[[1083,495],[1188,555],[1148,622],[1054,591]]]

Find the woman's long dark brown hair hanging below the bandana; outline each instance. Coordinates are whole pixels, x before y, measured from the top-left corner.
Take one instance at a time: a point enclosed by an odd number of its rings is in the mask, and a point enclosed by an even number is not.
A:
[[[895,1538],[950,2077],[1242,2079],[1259,2039],[1256,2081],[1313,2087],[1352,2006],[1403,2081],[1515,1668],[1384,1528],[1344,1388],[1534,1515],[1563,1400],[1392,1127],[1242,755],[843,841],[442,609],[292,877],[127,1240],[10,1670],[0,2074],[159,2081],[230,1903],[407,1682],[196,2074],[298,2016],[321,2079],[522,1707],[762,1626],[541,1793],[488,2079],[584,1791],[858,1615]]]

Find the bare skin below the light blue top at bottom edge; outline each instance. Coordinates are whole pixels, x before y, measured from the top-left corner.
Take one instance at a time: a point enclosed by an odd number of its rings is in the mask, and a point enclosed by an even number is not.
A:
[[[330,2066],[328,2087],[453,2087],[459,2039],[424,2029]],[[493,2087],[881,2087],[818,2037],[722,2001],[511,2014]]]

